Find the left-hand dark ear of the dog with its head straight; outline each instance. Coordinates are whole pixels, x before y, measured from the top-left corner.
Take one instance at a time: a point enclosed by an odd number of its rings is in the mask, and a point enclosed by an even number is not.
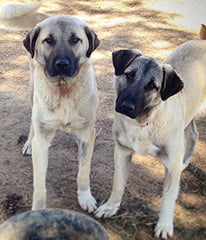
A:
[[[30,52],[31,57],[34,57],[34,52],[35,52],[35,44],[36,40],[39,36],[40,33],[40,27],[33,28],[27,35],[26,38],[24,39],[24,47],[28,52]]]

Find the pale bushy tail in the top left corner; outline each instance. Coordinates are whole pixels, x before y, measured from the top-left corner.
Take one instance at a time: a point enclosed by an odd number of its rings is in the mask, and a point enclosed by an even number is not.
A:
[[[49,17],[47,14],[36,12],[41,2],[35,3],[6,3],[0,10],[0,24],[6,28],[30,29],[37,23]]]

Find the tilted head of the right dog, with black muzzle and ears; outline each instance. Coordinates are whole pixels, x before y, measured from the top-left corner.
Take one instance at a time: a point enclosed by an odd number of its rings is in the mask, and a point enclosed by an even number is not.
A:
[[[169,97],[183,88],[183,82],[168,64],[143,55],[140,50],[113,52],[116,111],[140,123]]]

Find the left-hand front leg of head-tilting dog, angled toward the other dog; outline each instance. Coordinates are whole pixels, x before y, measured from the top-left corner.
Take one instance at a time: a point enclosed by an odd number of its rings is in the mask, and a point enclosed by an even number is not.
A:
[[[111,217],[119,209],[128,176],[129,162],[132,151],[118,142],[114,149],[114,179],[112,193],[109,200],[96,211],[96,217]]]

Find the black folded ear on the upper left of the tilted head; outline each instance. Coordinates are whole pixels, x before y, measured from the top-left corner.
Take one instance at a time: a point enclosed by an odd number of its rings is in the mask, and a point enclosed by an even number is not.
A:
[[[124,70],[136,58],[142,55],[140,50],[119,50],[112,53],[115,75],[122,75]]]

